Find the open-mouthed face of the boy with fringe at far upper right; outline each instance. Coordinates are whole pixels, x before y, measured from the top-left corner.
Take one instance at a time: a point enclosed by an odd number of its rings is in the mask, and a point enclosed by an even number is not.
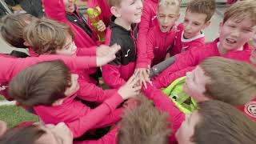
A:
[[[220,23],[219,31],[219,49],[238,50],[253,38],[255,26],[250,18],[244,18],[241,22],[236,18],[229,18],[225,23]]]

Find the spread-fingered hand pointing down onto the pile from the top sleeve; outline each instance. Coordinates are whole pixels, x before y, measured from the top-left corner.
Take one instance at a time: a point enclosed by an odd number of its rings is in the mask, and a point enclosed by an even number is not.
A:
[[[134,75],[137,75],[138,78],[140,79],[140,84],[143,84],[145,87],[146,82],[149,82],[150,84],[152,83],[150,81],[150,66],[148,69],[146,68],[138,68],[134,71]]]

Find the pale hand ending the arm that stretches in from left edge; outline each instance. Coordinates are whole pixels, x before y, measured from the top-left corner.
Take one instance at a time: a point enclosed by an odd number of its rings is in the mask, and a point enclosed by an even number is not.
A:
[[[106,65],[108,62],[111,62],[114,60],[115,54],[118,52],[118,50],[121,49],[121,46],[114,44],[113,46],[106,46],[106,49],[108,49],[108,53],[104,53],[99,57],[97,55],[96,57],[96,63],[97,66],[103,66]]]

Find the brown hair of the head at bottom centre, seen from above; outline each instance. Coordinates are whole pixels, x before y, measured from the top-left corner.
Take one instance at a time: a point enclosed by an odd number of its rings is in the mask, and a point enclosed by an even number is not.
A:
[[[154,107],[145,96],[134,110],[126,110],[118,131],[118,144],[166,144],[170,136],[167,114]]]

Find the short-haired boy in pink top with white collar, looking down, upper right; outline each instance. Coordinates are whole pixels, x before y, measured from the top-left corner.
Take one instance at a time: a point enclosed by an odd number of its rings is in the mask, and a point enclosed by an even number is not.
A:
[[[202,30],[210,25],[210,18],[214,15],[214,11],[215,1],[213,0],[188,3],[184,22],[178,25],[171,56],[205,44]]]

